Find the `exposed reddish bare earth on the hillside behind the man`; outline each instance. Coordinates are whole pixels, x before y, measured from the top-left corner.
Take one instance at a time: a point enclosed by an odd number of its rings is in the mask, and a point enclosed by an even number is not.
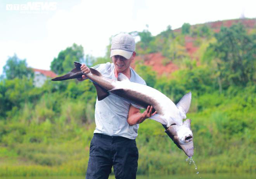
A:
[[[181,45],[183,46],[184,53],[191,60],[196,60],[197,64],[199,63],[202,55],[202,51],[206,49],[209,45],[209,42],[213,41],[214,33],[218,33],[221,27],[230,27],[233,24],[242,24],[248,33],[253,33],[256,31],[256,19],[231,19],[225,21],[215,21],[215,22],[206,22],[204,24],[195,24],[190,26],[190,33],[182,35],[182,28],[174,29],[173,33],[176,36],[182,38]],[[209,28],[209,36],[200,36],[198,34],[198,29],[201,27],[207,26]],[[143,49],[140,47],[140,42],[137,44],[137,49],[139,51],[137,57],[135,57],[134,62],[131,66],[134,68],[137,61],[142,62],[147,66],[151,66],[158,75],[170,74],[179,69],[179,65],[176,63],[176,59],[170,59],[168,55],[163,54],[163,41],[166,36],[163,36],[163,33],[168,33],[168,30],[158,34],[155,39],[158,39],[160,48],[156,50],[157,52],[145,53],[142,52]],[[145,50],[147,51],[147,49]],[[141,52],[143,54],[141,54]],[[180,58],[178,58],[179,60]]]

